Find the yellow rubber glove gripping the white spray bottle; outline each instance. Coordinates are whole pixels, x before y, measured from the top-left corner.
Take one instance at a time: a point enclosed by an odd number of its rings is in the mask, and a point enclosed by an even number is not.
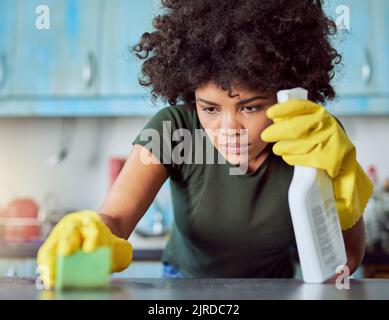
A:
[[[321,105],[289,100],[266,111],[273,124],[261,133],[276,142],[273,152],[291,166],[325,170],[332,179],[343,230],[361,217],[373,184],[356,160],[356,149],[337,120]]]

